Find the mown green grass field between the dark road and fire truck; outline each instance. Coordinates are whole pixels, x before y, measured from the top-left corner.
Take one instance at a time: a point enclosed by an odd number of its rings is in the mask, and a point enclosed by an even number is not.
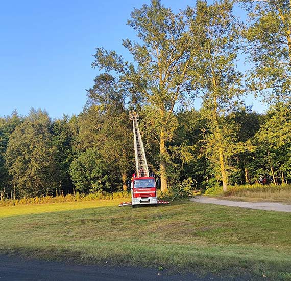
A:
[[[119,201],[1,207],[0,251],[291,279],[289,213],[189,201],[133,209]]]

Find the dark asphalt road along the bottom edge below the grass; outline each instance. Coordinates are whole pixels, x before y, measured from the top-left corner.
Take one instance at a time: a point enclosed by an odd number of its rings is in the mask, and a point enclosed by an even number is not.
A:
[[[15,256],[0,255],[0,281],[42,280],[222,280],[213,276],[198,278],[195,275],[168,275],[166,271],[110,265],[78,265],[63,262],[28,260]]]

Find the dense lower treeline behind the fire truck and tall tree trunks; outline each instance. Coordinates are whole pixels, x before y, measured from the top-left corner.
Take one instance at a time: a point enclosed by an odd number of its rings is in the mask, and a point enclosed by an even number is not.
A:
[[[109,104],[109,111],[89,105],[79,116],[55,120],[33,109],[26,117],[1,118],[1,198],[126,189],[135,167],[132,124],[125,108],[118,111]],[[178,124],[167,143],[170,187],[187,178],[197,189],[221,185],[219,159],[208,146],[211,134],[201,111],[175,115]],[[158,177],[159,147],[147,132],[146,113],[140,111],[141,132],[150,169]],[[268,183],[291,182],[290,132],[285,135],[290,107],[280,103],[266,114],[235,111],[225,122],[232,126],[225,145],[230,185],[257,183],[261,176]]]

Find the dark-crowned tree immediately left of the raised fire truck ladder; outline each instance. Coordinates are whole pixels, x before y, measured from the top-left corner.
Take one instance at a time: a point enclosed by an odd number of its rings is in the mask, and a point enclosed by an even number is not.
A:
[[[110,74],[100,74],[88,90],[88,100],[79,117],[79,142],[95,148],[101,157],[119,171],[123,190],[133,164],[133,137],[125,91]]]

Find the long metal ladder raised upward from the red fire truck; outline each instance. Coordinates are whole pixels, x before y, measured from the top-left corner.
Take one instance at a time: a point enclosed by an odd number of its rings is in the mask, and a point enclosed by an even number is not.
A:
[[[138,114],[135,111],[129,112],[129,118],[133,123],[134,155],[137,177],[149,177],[148,163],[144,153],[143,143],[138,128]]]

